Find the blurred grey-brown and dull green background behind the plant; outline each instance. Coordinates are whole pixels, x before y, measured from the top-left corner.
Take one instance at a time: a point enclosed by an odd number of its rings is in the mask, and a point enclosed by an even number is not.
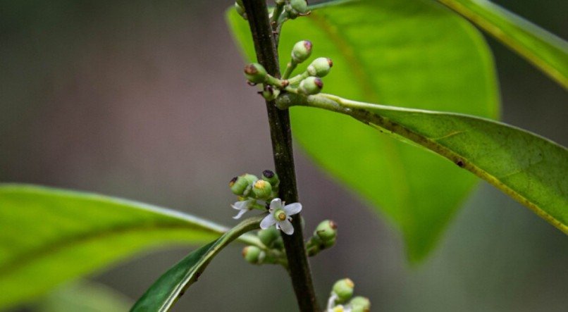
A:
[[[567,1],[495,2],[568,37]],[[264,103],[245,84],[223,20],[231,4],[1,1],[0,180],[123,196],[233,225],[228,180],[273,165]],[[568,145],[566,92],[488,42],[503,120]],[[306,232],[322,218],[340,226],[337,246],[311,259],[322,302],[335,280],[350,277],[373,311],[566,311],[567,237],[486,183],[428,260],[409,266],[388,220],[298,147],[296,161]],[[224,250],[174,311],[295,311],[285,272],[248,265],[240,248]],[[191,249],[142,254],[89,279],[137,299]]]

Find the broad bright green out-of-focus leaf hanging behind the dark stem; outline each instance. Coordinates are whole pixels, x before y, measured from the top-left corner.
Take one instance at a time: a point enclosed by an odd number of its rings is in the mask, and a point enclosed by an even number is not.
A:
[[[334,5],[335,4],[335,5]],[[247,23],[230,25],[254,58]],[[281,66],[310,39],[333,59],[325,89],[350,99],[496,118],[498,90],[486,42],[466,20],[433,1],[336,1],[286,23]],[[301,66],[300,66],[301,67]],[[476,184],[436,155],[327,111],[292,110],[292,130],[328,173],[400,227],[412,261],[424,258]]]

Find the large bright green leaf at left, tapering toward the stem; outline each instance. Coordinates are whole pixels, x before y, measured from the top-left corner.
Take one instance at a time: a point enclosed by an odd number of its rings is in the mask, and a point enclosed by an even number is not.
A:
[[[0,309],[144,249],[226,231],[135,201],[30,185],[0,185],[0,229]]]

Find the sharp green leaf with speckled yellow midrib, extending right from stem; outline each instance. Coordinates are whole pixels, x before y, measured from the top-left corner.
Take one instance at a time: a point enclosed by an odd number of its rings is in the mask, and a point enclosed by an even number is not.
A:
[[[568,234],[568,149],[493,120],[368,104],[331,94],[285,95],[279,106],[345,113],[419,144],[469,170]]]

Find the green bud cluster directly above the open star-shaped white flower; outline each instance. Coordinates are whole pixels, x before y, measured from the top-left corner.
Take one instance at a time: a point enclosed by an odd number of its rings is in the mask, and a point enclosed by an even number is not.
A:
[[[237,195],[238,201],[231,206],[239,211],[233,218],[238,219],[254,208],[266,211],[267,203],[278,196],[278,185],[278,175],[271,170],[264,170],[260,179],[249,173],[233,177],[229,187]],[[264,204],[259,204],[258,201],[264,201]]]

